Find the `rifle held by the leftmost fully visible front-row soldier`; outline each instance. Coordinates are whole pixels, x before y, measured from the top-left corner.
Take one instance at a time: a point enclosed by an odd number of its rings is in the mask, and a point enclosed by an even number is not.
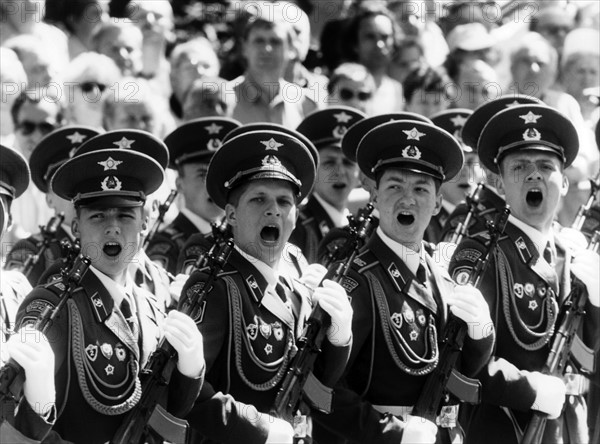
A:
[[[210,272],[204,287],[192,297],[182,295],[178,310],[189,315],[192,319],[198,316],[204,299],[212,288],[218,274],[229,259],[233,250],[233,240],[225,241],[214,253],[207,258]],[[173,444],[184,444],[187,440],[188,423],[169,414],[158,404],[163,390],[169,384],[171,373],[177,364],[177,352],[163,338],[157,349],[152,353],[140,373],[142,381],[142,397],[138,404],[129,411],[111,444],[144,444],[147,436],[158,433]]]

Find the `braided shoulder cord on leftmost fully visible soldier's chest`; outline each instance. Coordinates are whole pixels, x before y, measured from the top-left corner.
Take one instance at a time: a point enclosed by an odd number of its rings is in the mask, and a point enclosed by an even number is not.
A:
[[[90,389],[87,385],[86,373],[87,369],[85,368],[85,350],[83,347],[83,324],[81,321],[81,316],[79,315],[79,309],[73,300],[67,301],[69,307],[69,313],[71,318],[71,324],[73,325],[72,330],[72,343],[73,343],[73,362],[75,364],[75,368],[77,370],[77,378],[79,380],[79,387],[81,388],[81,392],[83,397],[87,401],[87,403],[98,413],[107,416],[116,416],[121,415],[129,410],[131,410],[140,400],[142,396],[142,386],[140,380],[137,376],[138,371],[138,363],[135,359],[130,359],[129,361],[129,370],[135,375],[132,383],[129,385],[127,390],[124,393],[127,393],[131,388],[135,385],[133,393],[120,404],[116,404],[113,406],[106,405],[98,401],[94,395],[90,392]],[[90,377],[90,380],[93,378]],[[94,384],[94,389],[98,390],[98,387]],[[101,392],[100,390],[98,390]],[[107,398],[109,398],[107,396]]]

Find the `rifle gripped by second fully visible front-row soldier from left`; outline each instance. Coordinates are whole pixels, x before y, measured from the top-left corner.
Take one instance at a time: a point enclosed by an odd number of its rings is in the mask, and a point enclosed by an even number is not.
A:
[[[347,252],[346,260],[330,265],[321,283],[326,279],[339,282],[346,275],[360,246],[365,239],[369,238],[373,229],[373,216],[371,215],[365,217],[357,228],[351,228],[352,237],[349,240],[351,244],[349,247],[351,248],[345,248]],[[320,305],[316,305],[306,322],[302,336],[297,341],[298,352],[292,359],[275,398],[273,411],[276,416],[291,418],[299,408],[303,392],[312,407],[325,413],[331,411],[330,400],[316,399],[318,392],[322,392],[324,387],[312,375],[312,369],[317,355],[321,351],[321,344],[325,338],[329,322],[330,319],[327,313]],[[325,388],[325,390],[327,389]]]

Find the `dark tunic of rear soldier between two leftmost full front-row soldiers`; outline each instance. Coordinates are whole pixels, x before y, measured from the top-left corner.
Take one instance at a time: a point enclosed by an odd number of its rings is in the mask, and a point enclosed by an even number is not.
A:
[[[187,240],[196,233],[198,228],[185,214],[179,213],[167,228],[156,233],[146,249],[146,254],[169,273],[176,275],[180,271],[177,269],[179,254]]]

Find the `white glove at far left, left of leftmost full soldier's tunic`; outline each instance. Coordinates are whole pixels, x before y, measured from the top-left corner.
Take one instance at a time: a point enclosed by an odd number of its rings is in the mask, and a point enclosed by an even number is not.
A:
[[[32,324],[11,336],[8,353],[25,370],[23,393],[31,408],[40,416],[54,406],[54,352],[46,336]]]

